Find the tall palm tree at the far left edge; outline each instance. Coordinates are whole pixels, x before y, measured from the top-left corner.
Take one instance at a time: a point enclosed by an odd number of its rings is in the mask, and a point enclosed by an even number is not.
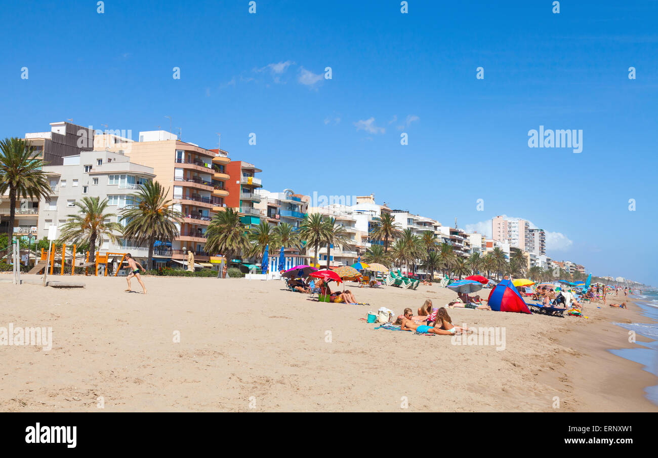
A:
[[[21,138],[5,138],[0,141],[0,194],[9,189],[9,243],[14,238],[16,222],[16,197],[47,198],[50,186],[41,170],[44,162],[38,153]]]

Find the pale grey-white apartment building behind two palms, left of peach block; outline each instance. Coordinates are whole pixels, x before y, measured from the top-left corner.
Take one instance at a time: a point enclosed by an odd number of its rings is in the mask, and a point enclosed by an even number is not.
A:
[[[68,215],[77,214],[76,202],[85,197],[98,197],[108,200],[107,212],[113,213],[111,222],[125,225],[121,212],[132,204],[131,194],[147,181],[155,178],[153,168],[130,161],[130,157],[117,152],[91,151],[76,156],[63,158],[63,165],[43,167],[50,181],[51,193],[39,202],[37,216],[38,237],[47,236],[50,225],[57,225],[57,237]],[[120,234],[116,234],[119,236]],[[97,241],[97,250],[101,252],[130,252],[140,262],[148,256],[148,247],[134,241],[118,239],[114,243],[103,237]],[[170,250],[160,248],[154,258],[166,260],[171,257]]]

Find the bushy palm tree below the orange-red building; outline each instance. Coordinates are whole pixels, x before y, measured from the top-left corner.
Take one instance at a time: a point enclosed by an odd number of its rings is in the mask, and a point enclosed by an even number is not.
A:
[[[208,240],[205,248],[208,252],[223,254],[230,261],[240,252],[248,252],[251,245],[245,225],[240,214],[232,208],[217,212],[206,231]]]

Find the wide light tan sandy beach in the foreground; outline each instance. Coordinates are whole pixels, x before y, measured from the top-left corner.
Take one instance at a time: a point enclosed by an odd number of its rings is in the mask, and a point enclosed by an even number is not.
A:
[[[144,277],[142,295],[124,278],[75,279],[86,287],[0,282],[0,326],[53,328],[50,351],[0,347],[0,411],[658,411],[644,397],[656,378],[607,351],[636,345],[612,324],[647,322],[633,304],[588,304],[588,319],[449,310],[458,326],[504,327],[497,351],[360,320],[456,297],[438,285],[348,283],[365,306],[282,281]]]

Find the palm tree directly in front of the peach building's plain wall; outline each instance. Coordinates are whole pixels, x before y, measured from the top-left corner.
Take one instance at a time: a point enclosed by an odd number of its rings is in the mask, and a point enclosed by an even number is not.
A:
[[[180,212],[174,210],[171,200],[166,198],[169,192],[157,181],[147,181],[139,191],[130,194],[132,205],[121,212],[126,222],[124,239],[134,239],[138,244],[149,244],[149,257],[146,268],[153,268],[153,245],[156,240],[167,241],[178,237],[178,226],[183,219]]]

